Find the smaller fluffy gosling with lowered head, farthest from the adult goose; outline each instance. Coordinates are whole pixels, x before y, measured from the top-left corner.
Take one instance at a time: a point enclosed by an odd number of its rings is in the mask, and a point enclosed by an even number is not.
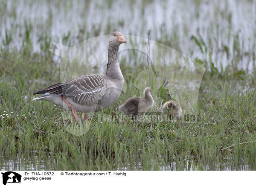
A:
[[[171,100],[163,104],[162,112],[163,114],[166,114],[168,112],[168,116],[180,117],[182,109],[180,108],[180,104],[178,102]]]

